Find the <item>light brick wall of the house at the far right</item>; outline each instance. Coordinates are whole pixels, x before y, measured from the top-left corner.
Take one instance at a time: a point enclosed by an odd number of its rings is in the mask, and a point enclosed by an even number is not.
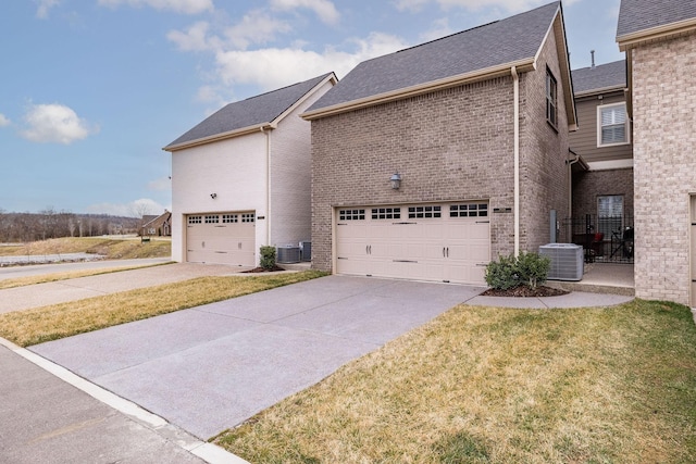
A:
[[[636,297],[689,302],[696,34],[633,50]]]

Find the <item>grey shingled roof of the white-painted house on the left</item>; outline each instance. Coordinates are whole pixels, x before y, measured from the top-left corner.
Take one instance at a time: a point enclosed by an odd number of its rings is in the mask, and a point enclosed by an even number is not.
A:
[[[217,139],[226,134],[234,135],[245,129],[256,130],[260,126],[272,125],[314,87],[332,77],[335,79],[334,73],[327,73],[303,83],[229,103],[164,147],[163,150],[174,151],[196,142]]]

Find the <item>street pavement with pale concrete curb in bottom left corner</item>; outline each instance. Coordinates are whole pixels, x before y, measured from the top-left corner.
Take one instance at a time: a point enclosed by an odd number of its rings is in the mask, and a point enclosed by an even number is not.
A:
[[[87,385],[87,390],[101,397],[94,398],[58,376],[70,377],[71,373],[0,340],[1,462],[244,462],[133,403]],[[72,376],[75,384],[88,384]],[[122,411],[132,413],[119,412],[109,402],[121,403]]]

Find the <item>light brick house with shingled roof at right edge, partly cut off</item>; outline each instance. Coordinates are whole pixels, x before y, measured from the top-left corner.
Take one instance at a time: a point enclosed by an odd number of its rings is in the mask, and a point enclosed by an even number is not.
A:
[[[636,297],[696,306],[696,1],[622,0]]]

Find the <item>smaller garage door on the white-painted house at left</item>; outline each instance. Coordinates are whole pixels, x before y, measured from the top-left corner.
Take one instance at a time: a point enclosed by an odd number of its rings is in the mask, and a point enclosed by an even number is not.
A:
[[[186,217],[186,261],[254,265],[256,215],[252,212],[190,214]]]

